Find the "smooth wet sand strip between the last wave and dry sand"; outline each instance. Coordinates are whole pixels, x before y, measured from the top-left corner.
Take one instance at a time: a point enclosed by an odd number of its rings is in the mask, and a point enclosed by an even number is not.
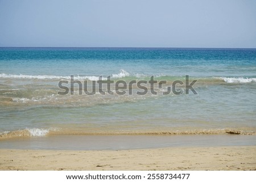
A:
[[[220,146],[256,146],[256,135],[60,135],[0,141],[0,149],[24,150],[133,150]]]

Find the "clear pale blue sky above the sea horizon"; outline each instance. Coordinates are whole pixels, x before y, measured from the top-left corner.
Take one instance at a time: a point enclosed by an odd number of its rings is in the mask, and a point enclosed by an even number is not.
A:
[[[0,46],[256,48],[256,1],[0,0]]]

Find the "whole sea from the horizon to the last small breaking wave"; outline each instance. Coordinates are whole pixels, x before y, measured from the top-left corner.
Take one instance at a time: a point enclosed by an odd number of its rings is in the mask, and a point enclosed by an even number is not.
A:
[[[167,81],[157,95],[59,95],[59,81]],[[197,94],[162,95],[197,80]],[[170,86],[169,84],[169,86]],[[91,85],[89,85],[91,87]],[[147,85],[149,88],[149,86]],[[182,87],[180,87],[182,88]],[[256,49],[0,48],[0,138],[255,134]]]

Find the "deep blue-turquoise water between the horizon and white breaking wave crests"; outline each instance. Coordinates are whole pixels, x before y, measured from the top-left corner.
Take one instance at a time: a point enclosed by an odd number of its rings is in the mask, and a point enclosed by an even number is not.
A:
[[[254,77],[256,49],[0,48],[0,73]]]

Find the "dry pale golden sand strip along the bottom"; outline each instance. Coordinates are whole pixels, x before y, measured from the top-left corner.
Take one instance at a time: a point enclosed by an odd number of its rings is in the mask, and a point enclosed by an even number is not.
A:
[[[0,149],[0,170],[256,170],[256,146],[86,151]]]

